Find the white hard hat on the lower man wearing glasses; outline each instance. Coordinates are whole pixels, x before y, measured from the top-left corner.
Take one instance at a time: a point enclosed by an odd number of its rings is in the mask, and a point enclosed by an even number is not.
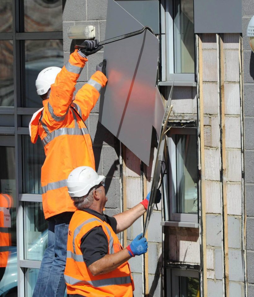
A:
[[[68,193],[71,197],[82,197],[89,193],[89,190],[99,185],[105,179],[104,175],[98,175],[89,166],[80,166],[72,170],[67,179]]]

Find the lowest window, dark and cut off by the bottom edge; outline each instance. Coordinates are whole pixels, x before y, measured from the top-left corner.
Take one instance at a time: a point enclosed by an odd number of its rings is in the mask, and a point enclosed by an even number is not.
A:
[[[167,297],[197,296],[199,296],[198,271],[167,269]]]

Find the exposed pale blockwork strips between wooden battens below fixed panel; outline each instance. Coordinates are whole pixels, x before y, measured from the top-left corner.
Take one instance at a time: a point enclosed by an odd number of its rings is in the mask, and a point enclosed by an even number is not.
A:
[[[239,34],[224,34],[226,193],[230,296],[244,296]],[[208,296],[223,296],[221,124],[216,34],[202,34]],[[204,211],[204,210],[203,210]],[[234,289],[235,288],[235,291]]]

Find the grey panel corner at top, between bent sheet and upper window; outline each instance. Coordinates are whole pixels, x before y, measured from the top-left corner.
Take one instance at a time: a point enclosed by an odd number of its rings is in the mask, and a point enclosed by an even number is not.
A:
[[[142,25],[149,26],[159,34],[159,0],[117,0]]]

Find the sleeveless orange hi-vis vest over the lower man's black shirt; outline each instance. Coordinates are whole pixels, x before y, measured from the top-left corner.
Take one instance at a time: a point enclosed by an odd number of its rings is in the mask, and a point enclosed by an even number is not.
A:
[[[64,272],[67,294],[79,294],[86,297],[132,297],[134,283],[127,261],[115,270],[97,276],[93,276],[87,268],[80,248],[81,238],[94,227],[102,227],[106,234],[108,254],[119,252],[122,249],[117,235],[109,224],[90,213],[76,210],[68,231],[67,260]]]

